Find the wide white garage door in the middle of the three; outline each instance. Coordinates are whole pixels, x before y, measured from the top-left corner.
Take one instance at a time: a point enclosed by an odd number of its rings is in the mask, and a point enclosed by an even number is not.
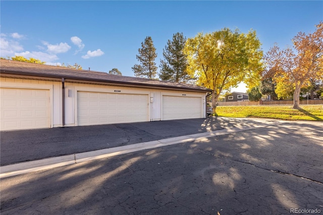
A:
[[[78,125],[148,121],[148,95],[102,92],[77,93]]]

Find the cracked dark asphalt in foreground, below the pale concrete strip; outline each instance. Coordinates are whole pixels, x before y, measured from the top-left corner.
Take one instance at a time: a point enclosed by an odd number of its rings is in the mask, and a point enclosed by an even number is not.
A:
[[[223,215],[298,208],[323,214],[322,125],[277,121],[4,178],[0,212]]]

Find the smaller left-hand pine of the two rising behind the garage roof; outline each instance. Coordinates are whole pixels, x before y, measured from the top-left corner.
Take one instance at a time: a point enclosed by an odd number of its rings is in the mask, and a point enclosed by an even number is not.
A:
[[[138,51],[139,55],[136,55],[136,58],[140,64],[135,64],[132,67],[135,76],[154,79],[157,74],[156,63],[154,62],[157,54],[150,36],[145,38],[145,41],[141,43],[141,48]]]

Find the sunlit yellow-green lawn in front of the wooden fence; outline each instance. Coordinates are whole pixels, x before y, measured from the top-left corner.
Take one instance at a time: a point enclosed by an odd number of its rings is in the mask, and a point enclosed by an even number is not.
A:
[[[299,110],[285,105],[259,106],[217,106],[214,116],[219,117],[260,117],[283,120],[323,121],[323,105],[300,105]]]

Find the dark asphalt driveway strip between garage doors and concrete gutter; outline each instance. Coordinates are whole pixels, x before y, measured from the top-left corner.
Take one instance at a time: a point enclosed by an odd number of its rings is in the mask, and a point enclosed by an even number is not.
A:
[[[215,131],[241,125],[250,126],[260,122],[261,120],[255,119],[212,117],[206,119],[4,131],[0,134],[0,164],[5,166],[30,160]]]

